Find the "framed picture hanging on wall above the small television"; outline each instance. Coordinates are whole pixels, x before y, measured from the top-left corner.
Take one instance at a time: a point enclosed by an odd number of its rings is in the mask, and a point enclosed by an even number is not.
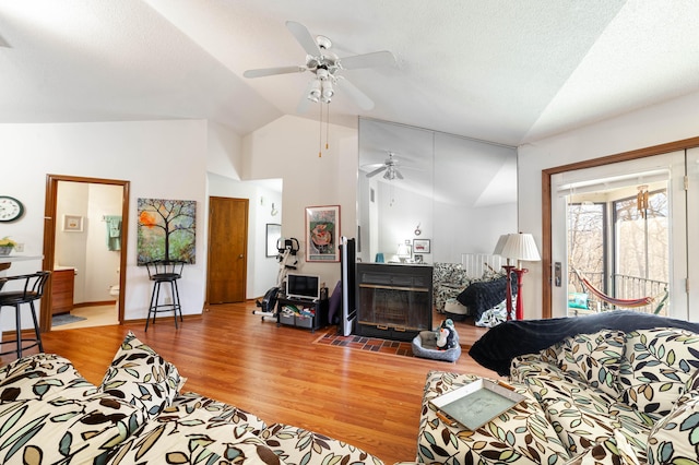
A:
[[[340,205],[306,207],[306,261],[339,262]]]

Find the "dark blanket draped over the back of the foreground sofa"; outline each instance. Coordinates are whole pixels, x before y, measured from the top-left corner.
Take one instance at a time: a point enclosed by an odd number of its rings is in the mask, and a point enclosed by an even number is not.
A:
[[[469,355],[483,367],[506,377],[510,373],[510,362],[514,357],[536,354],[566,337],[601,330],[629,332],[653,327],[680,327],[699,334],[697,323],[616,310],[584,317],[507,321],[488,330],[471,347]]]

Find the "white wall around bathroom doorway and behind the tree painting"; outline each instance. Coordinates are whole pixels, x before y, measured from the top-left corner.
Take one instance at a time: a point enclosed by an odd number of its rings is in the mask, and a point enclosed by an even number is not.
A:
[[[202,120],[0,124],[0,151],[3,160],[12,160],[11,169],[0,170],[0,184],[3,194],[26,205],[22,219],[0,225],[0,237],[24,242],[27,255],[42,254],[47,174],[129,180],[125,318],[142,319],[147,313],[151,285],[146,271],[135,265],[137,199],[194,200],[197,263],[185,269],[180,297],[183,313],[200,313],[206,269],[206,139]],[[17,262],[10,272],[40,267],[40,261]]]

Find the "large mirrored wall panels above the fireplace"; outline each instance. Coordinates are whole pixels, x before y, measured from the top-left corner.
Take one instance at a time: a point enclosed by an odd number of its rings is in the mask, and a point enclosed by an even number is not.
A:
[[[517,231],[514,147],[359,119],[358,257],[461,262]]]

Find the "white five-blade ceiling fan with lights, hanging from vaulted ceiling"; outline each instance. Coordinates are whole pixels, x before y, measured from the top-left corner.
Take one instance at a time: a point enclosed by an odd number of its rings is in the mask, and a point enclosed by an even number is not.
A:
[[[339,71],[394,64],[395,58],[393,53],[383,50],[339,58],[330,51],[332,41],[328,37],[317,36],[313,38],[306,26],[294,21],[287,21],[286,27],[306,51],[306,64],[248,70],[242,73],[244,76],[262,78],[310,71],[315,76],[308,84],[305,99],[307,98],[316,103],[330,103],[335,93],[335,84],[342,81],[340,86],[346,88],[347,94],[359,108],[364,110],[374,108],[374,102],[347,81],[345,76],[341,75]]]

